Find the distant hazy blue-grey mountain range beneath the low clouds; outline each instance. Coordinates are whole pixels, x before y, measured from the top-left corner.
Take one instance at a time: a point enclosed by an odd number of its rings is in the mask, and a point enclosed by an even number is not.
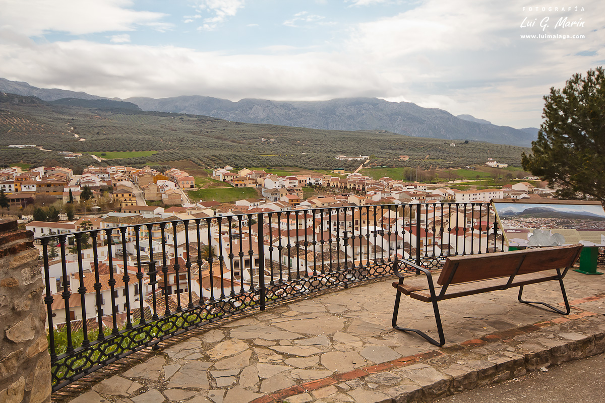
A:
[[[45,101],[61,98],[110,99],[64,89],[36,88],[25,82],[0,79],[0,91],[34,95]],[[121,101],[119,98],[114,100]],[[471,115],[456,117],[436,108],[411,102],[388,102],[380,98],[338,98],[329,101],[280,102],[244,98],[232,102],[220,98],[189,95],[171,98],[132,97],[125,100],[143,111],[206,115],[244,123],[278,124],[327,130],[377,130],[414,137],[446,140],[486,141],[530,146],[538,129],[496,126]]]

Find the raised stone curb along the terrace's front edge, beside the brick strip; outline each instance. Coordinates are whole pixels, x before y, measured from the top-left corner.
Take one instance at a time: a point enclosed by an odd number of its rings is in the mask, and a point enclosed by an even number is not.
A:
[[[365,403],[432,401],[476,387],[506,381],[551,365],[605,352],[605,317],[583,311],[577,305],[605,298],[605,294],[571,301],[572,314],[514,329],[488,334],[479,339],[450,344],[437,350],[402,357],[374,366],[361,367],[327,378],[295,385],[254,399],[250,403],[310,402],[311,393],[323,397],[329,387],[359,387],[367,392]],[[590,323],[593,322],[593,323]],[[591,329],[592,327],[592,329]],[[598,329],[595,329],[597,327]],[[506,343],[506,344],[505,344]],[[548,344],[551,344],[548,346]],[[383,374],[402,379],[392,387],[366,378]],[[347,383],[348,382],[348,383]],[[359,383],[361,382],[361,383]],[[344,392],[341,390],[339,392]],[[372,395],[375,397],[372,399]],[[320,399],[321,400],[321,399]],[[321,400],[322,402],[324,400]],[[330,399],[325,400],[329,402]]]

